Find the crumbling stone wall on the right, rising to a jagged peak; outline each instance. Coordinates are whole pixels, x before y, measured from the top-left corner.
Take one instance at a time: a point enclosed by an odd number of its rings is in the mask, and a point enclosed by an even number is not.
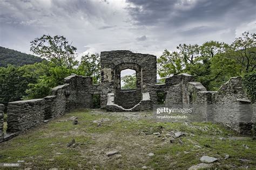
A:
[[[206,121],[221,123],[242,134],[251,133],[255,112],[241,77],[232,77],[218,91],[198,91],[192,103],[197,104],[197,111]]]

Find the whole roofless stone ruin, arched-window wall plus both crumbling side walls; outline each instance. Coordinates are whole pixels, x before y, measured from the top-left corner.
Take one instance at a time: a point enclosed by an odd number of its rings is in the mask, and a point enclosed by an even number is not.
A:
[[[130,51],[100,53],[101,82],[93,84],[92,77],[70,75],[64,84],[52,89],[51,95],[35,100],[8,103],[8,129],[3,134],[4,105],[0,104],[0,141],[32,129],[46,120],[64,115],[74,109],[93,108],[93,95],[100,95],[100,108],[109,111],[152,110],[158,104],[158,95],[163,94],[165,103],[200,104],[203,116],[228,126],[239,133],[250,134],[255,119],[255,104],[251,104],[241,77],[232,77],[218,91],[207,91],[192,75],[183,73],[157,84],[157,60],[150,54]],[[120,73],[124,69],[136,71],[134,90],[121,89]],[[210,104],[235,104],[232,108],[209,108]],[[249,104],[245,111],[242,105]],[[210,116],[209,116],[210,115]],[[245,120],[246,119],[246,120]]]

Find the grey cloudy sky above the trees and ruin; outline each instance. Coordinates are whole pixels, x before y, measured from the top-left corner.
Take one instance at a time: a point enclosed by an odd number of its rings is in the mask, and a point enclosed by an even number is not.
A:
[[[0,46],[62,35],[77,52],[115,49],[161,55],[180,43],[230,43],[256,32],[255,0],[0,0]]]

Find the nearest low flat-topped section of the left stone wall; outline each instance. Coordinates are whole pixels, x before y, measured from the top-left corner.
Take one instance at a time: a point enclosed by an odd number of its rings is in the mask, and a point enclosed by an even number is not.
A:
[[[44,123],[43,99],[8,103],[8,133],[22,132]]]

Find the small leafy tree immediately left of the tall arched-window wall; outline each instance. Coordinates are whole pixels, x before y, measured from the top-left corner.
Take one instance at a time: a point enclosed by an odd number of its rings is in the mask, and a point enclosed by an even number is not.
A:
[[[99,82],[100,78],[100,57],[98,53],[82,56],[78,67],[80,75],[92,76],[93,82]]]

